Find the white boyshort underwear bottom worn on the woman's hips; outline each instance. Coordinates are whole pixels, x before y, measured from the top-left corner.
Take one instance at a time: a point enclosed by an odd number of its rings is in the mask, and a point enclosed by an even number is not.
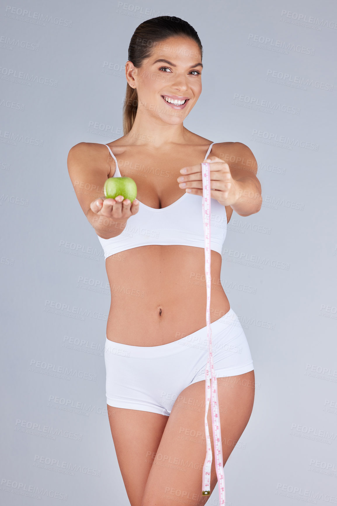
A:
[[[245,332],[231,308],[211,329],[217,377],[254,369]],[[207,326],[160,346],[130,346],[106,338],[107,404],[169,416],[179,394],[205,380],[207,358]]]

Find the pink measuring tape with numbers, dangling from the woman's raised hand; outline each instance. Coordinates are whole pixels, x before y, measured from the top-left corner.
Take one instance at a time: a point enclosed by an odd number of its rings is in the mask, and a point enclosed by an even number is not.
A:
[[[211,330],[211,175],[210,164],[202,163],[202,176],[203,176],[203,223],[205,233],[205,275],[206,275],[206,324],[207,324],[207,340],[208,340],[208,359],[206,366],[206,406],[205,406],[205,434],[206,434],[206,458],[203,467],[203,495],[211,494],[211,465],[212,465],[212,448],[211,438],[208,430],[207,414],[208,407],[211,399],[211,412],[212,412],[212,430],[213,430],[213,443],[215,453],[215,469],[218,477],[219,486],[219,505],[225,506],[225,477],[223,473],[223,459],[222,459],[222,441],[221,441],[221,428],[220,428],[220,415],[219,415],[219,400],[218,400],[218,383],[213,366],[212,355],[212,330]],[[210,383],[211,375],[211,383]]]

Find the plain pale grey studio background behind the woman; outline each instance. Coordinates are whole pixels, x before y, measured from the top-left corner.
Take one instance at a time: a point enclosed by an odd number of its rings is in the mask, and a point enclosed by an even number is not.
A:
[[[327,0],[2,3],[0,502],[129,504],[106,409],[103,250],[67,155],[123,135],[130,37],[165,14],[204,47],[186,128],[247,144],[262,185],[260,212],[233,213],[222,252],[256,377],[226,504],[337,504],[337,7]],[[216,486],[207,504],[218,503]]]

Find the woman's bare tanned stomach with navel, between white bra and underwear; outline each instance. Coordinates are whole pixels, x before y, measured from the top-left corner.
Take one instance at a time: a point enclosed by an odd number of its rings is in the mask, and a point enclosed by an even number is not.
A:
[[[221,255],[211,250],[211,322],[230,305],[221,286]],[[107,338],[159,346],[206,326],[204,248],[150,245],[106,260],[111,288]]]

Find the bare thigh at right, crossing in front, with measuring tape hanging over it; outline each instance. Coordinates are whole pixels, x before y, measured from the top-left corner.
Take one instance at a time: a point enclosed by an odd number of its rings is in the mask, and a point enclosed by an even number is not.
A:
[[[218,378],[223,465],[244,432],[252,413],[254,370],[237,376]],[[172,500],[205,504],[202,471],[206,456],[205,381],[186,387],[172,408],[163,437],[153,461],[142,506],[168,506]],[[213,452],[211,493],[217,483],[212,433],[211,406],[208,426]],[[185,502],[184,501],[184,502]]]

